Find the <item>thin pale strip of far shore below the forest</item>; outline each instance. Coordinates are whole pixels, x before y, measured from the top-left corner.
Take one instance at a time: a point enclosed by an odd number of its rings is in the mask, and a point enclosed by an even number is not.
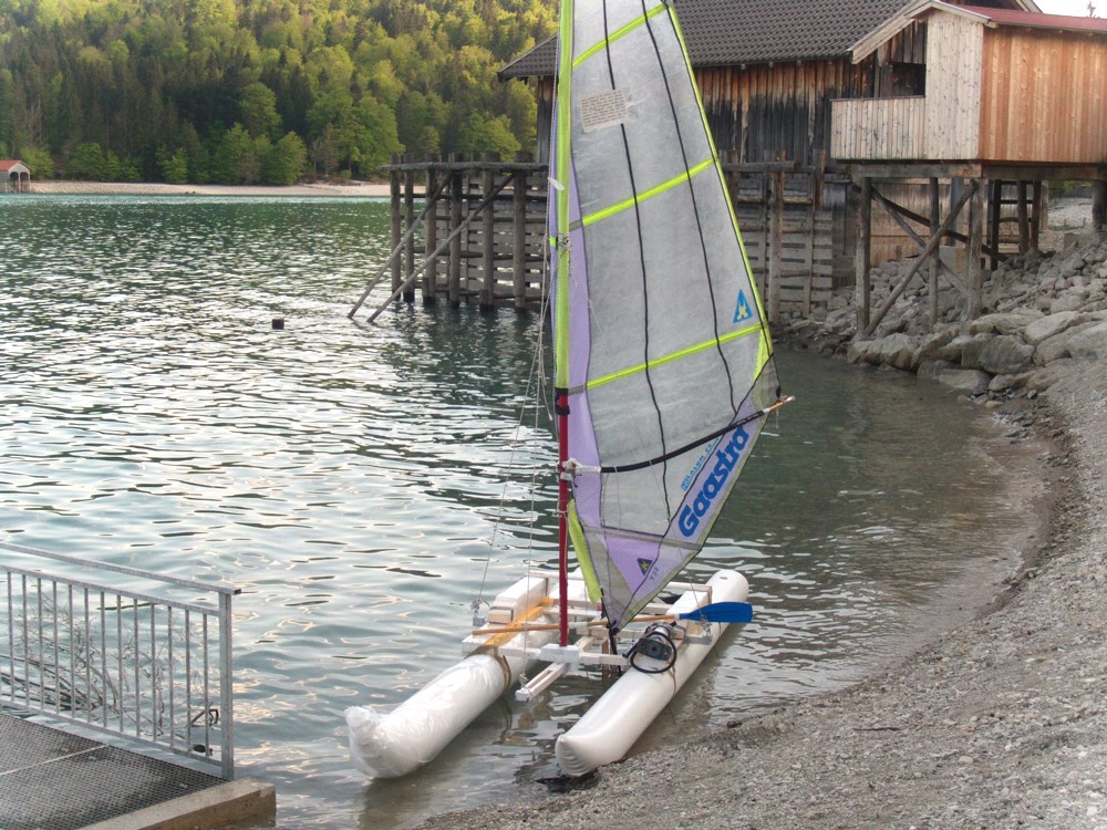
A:
[[[379,181],[317,181],[277,185],[166,185],[137,181],[32,181],[31,195],[41,196],[342,196],[387,198],[390,186]]]

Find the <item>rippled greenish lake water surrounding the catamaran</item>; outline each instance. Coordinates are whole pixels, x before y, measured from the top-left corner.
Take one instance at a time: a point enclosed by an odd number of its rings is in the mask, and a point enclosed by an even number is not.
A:
[[[387,222],[360,199],[0,197],[0,538],[240,587],[238,772],[277,785],[291,827],[539,795],[557,732],[600,691],[580,676],[505,698],[406,779],[349,762],[346,706],[404,699],[458,658],[483,585],[556,557],[538,315],[400,305],[351,323]],[[694,574],[746,573],[755,624],[639,748],[917,647],[1015,567],[1032,525],[1008,479],[1031,461],[979,411],[779,357],[798,401]]]

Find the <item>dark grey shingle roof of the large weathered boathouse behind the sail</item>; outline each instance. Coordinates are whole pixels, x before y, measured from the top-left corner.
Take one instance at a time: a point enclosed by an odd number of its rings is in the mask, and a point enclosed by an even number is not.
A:
[[[844,58],[910,0],[674,0],[696,66]],[[555,40],[503,70],[501,77],[554,74]]]

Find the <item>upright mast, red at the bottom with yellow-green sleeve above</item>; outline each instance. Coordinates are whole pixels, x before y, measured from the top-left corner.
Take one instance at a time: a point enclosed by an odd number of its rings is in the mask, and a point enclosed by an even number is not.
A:
[[[556,310],[554,314],[554,409],[558,434],[558,585],[559,641],[569,644],[569,479],[565,464],[569,459],[569,181],[571,155],[569,148],[569,91],[572,76],[573,0],[561,0],[558,31],[557,113],[555,120],[556,165],[550,176],[550,189],[557,196],[557,237],[551,240],[556,252]]]

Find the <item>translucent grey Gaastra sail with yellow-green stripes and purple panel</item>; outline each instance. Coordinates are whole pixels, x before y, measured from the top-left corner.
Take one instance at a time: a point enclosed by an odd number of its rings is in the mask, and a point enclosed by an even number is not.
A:
[[[778,388],[672,4],[565,0],[559,43],[550,235],[568,523],[618,630],[700,551]]]

